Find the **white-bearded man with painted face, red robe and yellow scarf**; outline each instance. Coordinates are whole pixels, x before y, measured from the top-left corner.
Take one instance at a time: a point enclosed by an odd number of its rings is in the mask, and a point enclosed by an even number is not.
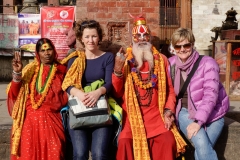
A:
[[[115,58],[114,94],[123,102],[117,160],[174,160],[185,150],[174,124],[176,95],[168,60],[150,40],[145,19],[135,18],[132,47]]]

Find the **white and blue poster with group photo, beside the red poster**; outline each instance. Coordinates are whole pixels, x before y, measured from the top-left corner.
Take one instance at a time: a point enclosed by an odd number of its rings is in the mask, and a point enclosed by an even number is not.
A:
[[[25,52],[35,52],[41,38],[40,14],[19,13],[19,47]]]

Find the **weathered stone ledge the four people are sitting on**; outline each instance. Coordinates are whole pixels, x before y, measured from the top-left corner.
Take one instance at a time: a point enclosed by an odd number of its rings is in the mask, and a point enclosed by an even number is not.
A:
[[[10,131],[11,131],[11,125],[0,125],[0,155],[1,160],[9,160],[10,155]],[[216,145],[215,149],[218,154],[219,160],[235,160],[239,159],[240,152],[238,151],[238,148],[240,148],[240,123],[225,117],[225,125],[223,128],[223,132],[220,135]],[[71,158],[71,144],[67,144],[67,160],[70,160]],[[109,153],[111,154],[109,160],[114,160],[115,156],[114,153],[116,151],[116,148],[111,146]],[[189,145],[187,148],[186,153],[184,154],[184,157],[186,160],[194,160],[194,148]],[[91,158],[90,158],[91,159]],[[181,160],[181,157],[177,158],[178,160]]]

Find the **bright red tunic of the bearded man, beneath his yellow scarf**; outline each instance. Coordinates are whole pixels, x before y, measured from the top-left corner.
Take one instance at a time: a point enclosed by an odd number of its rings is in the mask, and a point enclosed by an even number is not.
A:
[[[165,108],[170,109],[173,113],[175,113],[175,92],[172,85],[172,81],[168,72],[168,61],[165,56],[162,56],[165,64],[165,72],[167,76],[167,84],[166,84],[166,103]],[[147,72],[149,70],[149,65],[147,62],[143,63],[143,66],[141,67],[140,71]],[[143,78],[147,78],[148,74],[141,73],[141,76]],[[123,138],[132,138],[132,131],[130,122],[128,119],[127,114],[127,108],[125,103],[125,96],[124,96],[124,78],[117,77],[116,75],[112,74],[112,83],[113,83],[113,90],[114,95],[117,98],[122,98],[122,108],[123,108],[123,126],[122,131],[119,135],[119,140]],[[140,95],[144,95],[146,90],[138,88],[140,91]],[[147,138],[151,138],[154,136],[157,136],[161,133],[167,132],[168,130],[164,126],[164,122],[161,118],[160,112],[159,112],[159,106],[158,106],[158,93],[157,93],[157,85],[153,88],[153,94],[152,94],[152,100],[148,107],[140,106],[140,110],[143,117],[143,123],[146,130]],[[147,103],[148,99],[143,100],[142,103]],[[140,104],[139,104],[140,105]]]

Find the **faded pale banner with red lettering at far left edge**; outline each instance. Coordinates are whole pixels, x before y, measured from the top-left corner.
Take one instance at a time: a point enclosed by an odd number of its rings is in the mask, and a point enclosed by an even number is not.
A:
[[[18,47],[18,16],[17,14],[0,15],[0,55],[9,55],[9,49]],[[4,49],[6,49],[4,51]],[[10,54],[11,55],[11,54]]]

